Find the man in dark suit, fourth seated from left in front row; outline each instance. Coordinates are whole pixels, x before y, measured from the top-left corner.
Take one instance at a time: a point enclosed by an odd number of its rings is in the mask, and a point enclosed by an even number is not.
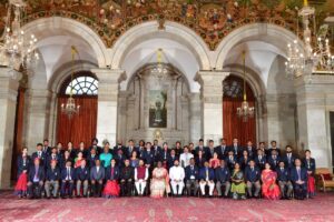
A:
[[[88,192],[88,181],[89,181],[89,169],[86,165],[86,160],[81,160],[81,164],[79,168],[76,168],[76,180],[77,180],[77,196],[81,196],[81,186],[82,186],[82,194],[84,198],[87,198]]]

